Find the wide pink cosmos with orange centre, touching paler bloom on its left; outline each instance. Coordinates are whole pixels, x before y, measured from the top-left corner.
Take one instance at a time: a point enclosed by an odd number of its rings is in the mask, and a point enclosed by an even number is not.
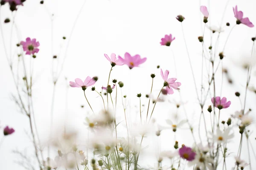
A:
[[[119,60],[124,64],[128,65],[130,69],[134,67],[139,67],[140,64],[144,63],[147,58],[140,58],[140,55],[136,54],[131,56],[129,53],[125,53],[125,58],[118,56]]]

